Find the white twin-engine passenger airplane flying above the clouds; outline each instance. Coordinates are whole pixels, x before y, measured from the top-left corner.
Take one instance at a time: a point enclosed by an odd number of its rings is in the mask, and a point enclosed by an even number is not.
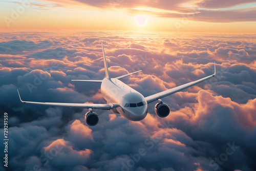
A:
[[[68,108],[83,108],[88,109],[88,112],[84,116],[86,123],[89,126],[95,126],[99,122],[98,114],[93,112],[93,109],[100,110],[110,110],[115,114],[120,114],[126,119],[131,121],[140,121],[144,119],[147,115],[148,111],[148,103],[153,101],[157,101],[155,105],[155,113],[161,117],[167,117],[170,113],[169,106],[161,100],[161,98],[194,86],[195,84],[202,82],[206,79],[214,77],[216,75],[216,67],[214,63],[214,74],[206,76],[196,81],[192,81],[181,86],[162,91],[160,93],[153,94],[151,96],[144,97],[142,94],[123,83],[119,79],[130,76],[132,74],[141,72],[136,71],[133,73],[129,73],[126,75],[122,75],[116,78],[111,78],[108,68],[108,63],[106,62],[106,56],[104,52],[103,43],[102,45],[102,54],[104,61],[104,70],[105,70],[105,78],[103,80],[72,80],[72,81],[84,81],[84,82],[100,82],[101,87],[100,91],[104,99],[107,101],[106,104],[89,104],[89,103],[57,103],[57,102],[33,102],[33,101],[23,101],[19,99],[23,103],[30,104],[40,104],[40,105],[49,105],[49,106],[60,106],[60,107],[68,107]],[[17,90],[18,91],[18,90]]]

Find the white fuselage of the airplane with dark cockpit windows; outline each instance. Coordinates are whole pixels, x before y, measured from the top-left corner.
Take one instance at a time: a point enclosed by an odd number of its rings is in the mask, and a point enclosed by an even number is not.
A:
[[[132,121],[140,121],[146,117],[147,102],[145,97],[119,79],[104,78],[100,90],[108,103],[120,105],[115,110],[111,110],[112,112],[119,113]]]

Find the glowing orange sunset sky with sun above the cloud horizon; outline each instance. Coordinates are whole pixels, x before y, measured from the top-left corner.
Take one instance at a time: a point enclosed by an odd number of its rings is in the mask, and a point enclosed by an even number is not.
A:
[[[253,0],[0,1],[1,29],[256,33]]]

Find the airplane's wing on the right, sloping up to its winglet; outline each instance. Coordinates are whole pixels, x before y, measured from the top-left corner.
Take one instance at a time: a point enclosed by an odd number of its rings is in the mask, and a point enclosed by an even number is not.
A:
[[[145,97],[145,99],[146,99],[147,103],[151,103],[151,102],[153,102],[153,101],[156,101],[157,99],[166,97],[166,96],[168,96],[168,95],[174,94],[174,93],[176,93],[176,92],[179,92],[179,91],[181,91],[181,90],[184,90],[184,89],[186,89],[186,88],[189,88],[189,87],[191,87],[191,86],[194,86],[195,84],[197,84],[197,83],[199,83],[199,82],[202,82],[202,81],[204,81],[204,80],[206,80],[206,79],[209,79],[209,78],[211,78],[211,77],[214,77],[215,75],[216,75],[216,68],[215,68],[215,63],[214,63],[214,74],[209,75],[209,76],[204,77],[204,78],[201,78],[201,79],[196,80],[196,81],[188,82],[188,83],[183,84],[183,85],[181,85],[181,86],[178,86],[178,87],[176,87],[176,88],[172,88],[172,89],[169,89],[169,90],[165,90],[165,91],[163,91],[163,92],[160,92],[160,93],[153,94],[153,95],[151,95],[151,96],[147,96],[147,97]]]

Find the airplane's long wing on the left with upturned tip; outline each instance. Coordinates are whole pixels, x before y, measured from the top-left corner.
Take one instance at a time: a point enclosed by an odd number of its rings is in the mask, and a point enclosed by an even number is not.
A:
[[[18,90],[17,90],[18,91]],[[52,103],[52,102],[34,102],[34,101],[23,101],[20,98],[19,92],[18,96],[20,101],[23,103],[29,104],[40,104],[40,105],[50,105],[50,106],[59,106],[59,107],[68,107],[68,108],[83,108],[83,109],[102,109],[102,110],[110,110],[113,108],[113,104],[90,104],[90,103]]]

